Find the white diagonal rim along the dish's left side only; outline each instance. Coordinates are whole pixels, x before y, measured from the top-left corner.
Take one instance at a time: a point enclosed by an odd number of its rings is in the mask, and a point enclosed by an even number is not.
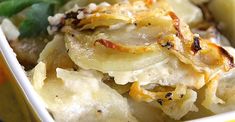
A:
[[[53,118],[46,109],[45,104],[40,99],[39,95],[34,90],[31,82],[26,76],[25,71],[18,62],[16,54],[13,52],[13,49],[10,47],[0,25],[0,53],[2,54],[10,72],[17,81],[17,84],[20,86],[23,91],[24,96],[26,97],[28,103],[33,108],[34,112],[37,114],[39,119],[43,122],[54,122]]]

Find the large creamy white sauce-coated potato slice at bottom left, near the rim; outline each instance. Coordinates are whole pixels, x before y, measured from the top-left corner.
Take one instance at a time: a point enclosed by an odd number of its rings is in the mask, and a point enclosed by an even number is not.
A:
[[[57,77],[73,95],[67,103],[58,101],[49,108],[56,121],[137,121],[131,115],[127,100],[102,83],[98,74],[58,68]]]

